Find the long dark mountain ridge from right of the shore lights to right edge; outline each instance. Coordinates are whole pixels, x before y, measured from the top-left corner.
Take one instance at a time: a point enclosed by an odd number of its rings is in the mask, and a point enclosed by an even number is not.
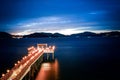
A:
[[[120,37],[120,32],[112,31],[112,32],[104,32],[104,33],[93,33],[93,32],[83,32],[72,34],[69,36],[60,34],[60,33],[33,33],[29,35],[23,36],[23,38],[41,38],[41,37]]]

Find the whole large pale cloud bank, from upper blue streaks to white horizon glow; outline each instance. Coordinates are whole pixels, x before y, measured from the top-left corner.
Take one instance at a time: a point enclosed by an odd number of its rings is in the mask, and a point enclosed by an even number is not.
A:
[[[100,29],[97,22],[87,22],[75,17],[46,16],[14,25],[12,34],[26,35],[34,32],[62,33],[66,35]]]

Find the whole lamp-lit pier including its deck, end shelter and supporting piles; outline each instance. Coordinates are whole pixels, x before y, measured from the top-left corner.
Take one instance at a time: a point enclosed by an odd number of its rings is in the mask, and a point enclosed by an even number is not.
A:
[[[55,46],[48,46],[47,44],[37,44],[37,48],[31,46],[28,48],[28,55],[24,56],[20,61],[14,64],[11,70],[7,70],[6,74],[2,74],[0,80],[33,80],[36,72],[39,70],[44,59],[54,59]]]

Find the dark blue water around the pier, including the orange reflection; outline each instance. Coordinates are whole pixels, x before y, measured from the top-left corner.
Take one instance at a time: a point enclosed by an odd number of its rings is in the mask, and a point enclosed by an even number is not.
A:
[[[55,45],[56,50],[55,62],[42,64],[36,80],[43,76],[47,80],[120,80],[120,38],[0,40],[0,73],[13,67],[27,54],[27,48],[37,43]],[[52,74],[56,78],[51,78]]]

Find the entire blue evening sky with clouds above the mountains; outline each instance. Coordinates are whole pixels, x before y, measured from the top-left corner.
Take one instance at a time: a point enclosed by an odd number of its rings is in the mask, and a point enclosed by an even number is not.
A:
[[[74,34],[120,30],[120,0],[0,0],[0,31]]]

